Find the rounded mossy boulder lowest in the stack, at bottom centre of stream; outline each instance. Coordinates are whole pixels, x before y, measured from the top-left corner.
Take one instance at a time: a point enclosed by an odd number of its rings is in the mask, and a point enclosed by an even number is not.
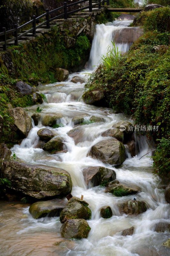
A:
[[[67,220],[61,227],[61,233],[63,237],[66,238],[87,238],[90,227],[86,220],[84,219],[75,219]]]

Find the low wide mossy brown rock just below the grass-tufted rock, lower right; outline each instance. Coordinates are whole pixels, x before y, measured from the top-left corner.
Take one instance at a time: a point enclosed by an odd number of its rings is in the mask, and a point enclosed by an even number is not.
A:
[[[119,209],[122,213],[136,215],[142,212],[146,212],[147,206],[144,202],[130,200],[123,204],[119,204]]]

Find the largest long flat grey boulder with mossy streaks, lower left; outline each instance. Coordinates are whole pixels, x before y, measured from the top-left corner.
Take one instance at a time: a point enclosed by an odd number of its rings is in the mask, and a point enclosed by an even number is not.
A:
[[[4,178],[11,181],[12,189],[37,199],[68,195],[71,192],[70,174],[51,166],[6,161]]]

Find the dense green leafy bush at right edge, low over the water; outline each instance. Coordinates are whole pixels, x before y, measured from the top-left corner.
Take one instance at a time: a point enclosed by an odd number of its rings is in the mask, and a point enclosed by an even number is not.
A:
[[[153,173],[155,176],[170,177],[170,140],[162,138],[153,156]]]

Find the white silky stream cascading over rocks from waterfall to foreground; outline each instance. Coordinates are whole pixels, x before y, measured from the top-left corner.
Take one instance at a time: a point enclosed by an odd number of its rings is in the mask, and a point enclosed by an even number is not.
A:
[[[117,26],[118,21],[115,23]],[[123,21],[119,24],[126,27],[129,21]],[[116,29],[121,31],[120,26],[115,27],[113,25],[114,23],[108,26],[103,24],[97,26],[97,31],[99,30],[100,33],[99,35],[96,34],[93,40],[89,67],[98,65],[99,55],[107,51],[107,45],[113,39],[112,32]],[[107,36],[105,36],[106,34]],[[129,45],[123,44],[120,47],[124,49],[123,51],[129,49]],[[94,53],[94,49],[98,54]],[[140,148],[139,154],[131,157],[127,152],[127,159],[117,168],[87,156],[92,145],[107,139],[107,137],[101,136],[102,132],[119,121],[127,120],[132,123],[132,120],[123,114],[114,114],[109,108],[86,105],[81,99],[85,83],[74,84],[70,82],[75,75],[84,77],[84,72],[71,74],[68,80],[62,83],[57,82],[38,87],[38,90],[47,96],[49,102],[39,106],[43,108],[42,115],[58,113],[63,116],[60,120],[63,127],[48,128],[55,130],[63,138],[65,149],[68,150],[67,153],[52,154],[39,148],[37,131],[44,127],[40,120],[37,126],[33,123],[32,130],[21,145],[15,145],[12,148],[12,154],[15,152],[19,158],[29,164],[55,166],[70,173],[73,183],[71,194],[80,198],[81,195],[84,195],[84,200],[89,203],[89,207],[92,210],[92,219],[87,220],[91,227],[89,236],[87,239],[73,240],[75,241],[75,246],[71,249],[58,248],[54,243],[64,240],[61,237],[60,228],[62,224],[58,217],[35,220],[29,214],[29,204],[16,201],[1,202],[1,256],[169,255],[169,249],[161,246],[169,238],[169,233],[153,231],[153,226],[157,222],[168,221],[170,207],[166,203],[161,180],[152,176],[151,158],[147,157],[149,155],[144,156],[148,151],[146,137],[137,138]],[[29,115],[35,112],[36,108],[37,105],[29,107]],[[67,132],[74,127],[72,118],[84,114],[88,116],[85,118],[85,124],[80,126],[79,134],[74,141],[73,138],[67,135]],[[90,123],[91,116],[103,117],[105,122]],[[87,188],[82,170],[88,166],[105,166],[115,170],[116,179],[120,183],[139,189],[139,193],[135,195],[135,198],[138,201],[144,201],[148,206],[148,210],[137,216],[122,215],[117,205],[133,200],[134,195],[116,197],[111,193],[105,193],[105,188],[101,186]],[[110,219],[100,217],[100,208],[105,205],[109,205],[112,209],[113,216]],[[121,236],[122,230],[132,226],[135,228],[132,236]]]

